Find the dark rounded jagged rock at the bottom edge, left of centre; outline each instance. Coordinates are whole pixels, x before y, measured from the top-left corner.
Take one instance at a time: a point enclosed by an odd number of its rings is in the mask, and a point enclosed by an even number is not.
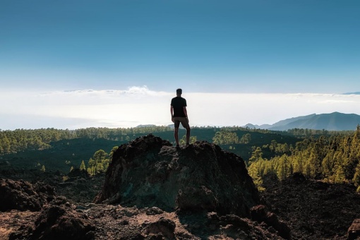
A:
[[[95,227],[85,215],[61,206],[45,207],[35,221],[30,239],[94,239]]]

